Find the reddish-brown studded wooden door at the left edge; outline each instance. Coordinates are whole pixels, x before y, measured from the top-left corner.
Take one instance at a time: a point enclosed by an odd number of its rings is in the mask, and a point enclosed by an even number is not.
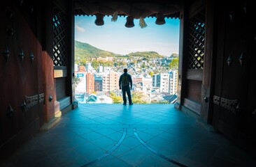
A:
[[[18,1],[1,1],[0,8],[0,157],[4,159],[39,128],[43,103],[35,104],[26,111],[21,105],[25,96],[43,93],[43,75],[42,46],[36,33],[36,5],[34,13],[25,10],[29,9],[28,3],[23,3],[21,7]],[[12,15],[8,15],[9,12]],[[13,33],[8,33],[10,30]],[[2,54],[6,46],[10,51],[7,61]],[[24,53],[22,61],[21,52]],[[29,58],[31,53],[34,55],[32,62]],[[6,115],[9,105],[13,112]]]

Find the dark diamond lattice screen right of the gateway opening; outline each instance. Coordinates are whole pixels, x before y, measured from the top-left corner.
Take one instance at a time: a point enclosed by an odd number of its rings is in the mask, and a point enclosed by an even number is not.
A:
[[[204,68],[205,10],[190,18],[188,69]]]

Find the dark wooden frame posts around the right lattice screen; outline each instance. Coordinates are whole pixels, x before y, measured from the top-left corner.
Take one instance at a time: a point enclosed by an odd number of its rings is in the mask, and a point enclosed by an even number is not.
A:
[[[196,0],[190,6],[189,3],[183,3],[180,10],[180,49],[179,49],[179,72],[178,72],[178,100],[176,102],[176,109],[186,110],[184,106],[185,95],[187,93],[187,79],[192,75],[186,69],[186,58],[188,54],[188,31],[189,31],[189,17],[194,12],[200,10],[202,7],[206,8],[206,32],[205,32],[205,55],[204,55],[204,69],[201,77],[201,111],[200,117],[208,124],[213,122],[213,92],[215,85],[215,2],[213,0]],[[194,11],[194,12],[193,12]],[[192,72],[193,73],[193,72]],[[197,75],[196,77],[199,77]],[[193,78],[194,79],[194,78]],[[197,79],[195,79],[197,80]],[[204,100],[206,97],[206,100]],[[190,109],[189,109],[190,110]]]

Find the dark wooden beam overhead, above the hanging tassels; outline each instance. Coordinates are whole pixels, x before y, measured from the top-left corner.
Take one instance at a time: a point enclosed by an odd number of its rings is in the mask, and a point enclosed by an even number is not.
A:
[[[118,15],[131,15],[138,17],[155,17],[157,13],[163,13],[167,18],[179,18],[180,3],[176,0],[123,0],[123,1],[103,1],[103,0],[73,0],[75,8],[74,15],[113,15],[118,11]]]

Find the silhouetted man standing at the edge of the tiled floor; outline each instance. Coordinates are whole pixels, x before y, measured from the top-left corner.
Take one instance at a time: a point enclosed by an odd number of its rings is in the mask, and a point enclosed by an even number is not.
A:
[[[132,105],[131,102],[131,89],[132,88],[132,80],[131,75],[127,73],[127,68],[124,69],[124,73],[120,76],[119,79],[119,88],[122,89],[122,100],[124,101],[123,105],[126,105],[126,93],[129,100],[129,105]]]

